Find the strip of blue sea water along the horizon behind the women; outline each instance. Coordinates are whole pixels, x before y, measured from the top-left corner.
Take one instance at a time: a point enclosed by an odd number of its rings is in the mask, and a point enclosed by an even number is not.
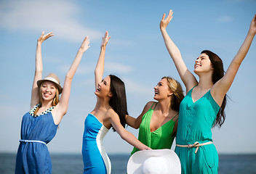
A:
[[[129,154],[109,154],[112,174],[127,171]],[[15,173],[16,154],[0,153],[0,173]],[[52,174],[81,174],[83,159],[81,154],[51,154]],[[256,154],[219,154],[219,174],[256,174]]]

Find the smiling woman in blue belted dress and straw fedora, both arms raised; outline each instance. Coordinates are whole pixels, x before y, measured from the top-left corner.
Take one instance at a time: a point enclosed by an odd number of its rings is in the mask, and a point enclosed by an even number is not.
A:
[[[52,173],[52,162],[47,144],[55,137],[57,126],[68,112],[71,82],[79,66],[84,51],[89,48],[86,37],[76,58],[65,75],[63,88],[57,75],[51,73],[41,79],[43,64],[41,43],[52,37],[52,33],[41,34],[36,48],[36,70],[31,95],[31,111],[23,116],[20,132],[20,146],[17,150],[15,173],[46,174]],[[61,94],[59,99],[59,94]]]

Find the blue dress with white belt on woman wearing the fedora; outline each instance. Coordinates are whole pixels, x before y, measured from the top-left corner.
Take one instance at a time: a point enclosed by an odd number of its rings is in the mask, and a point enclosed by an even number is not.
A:
[[[20,146],[16,157],[16,174],[52,173],[52,161],[46,144],[55,137],[58,125],[55,125],[52,117],[53,107],[41,115],[33,114],[39,105],[23,116]]]

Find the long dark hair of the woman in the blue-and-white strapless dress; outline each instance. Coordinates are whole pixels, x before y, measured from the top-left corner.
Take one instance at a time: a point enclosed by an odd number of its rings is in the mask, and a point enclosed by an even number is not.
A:
[[[109,100],[109,105],[113,110],[119,115],[120,123],[125,128],[126,120],[125,116],[128,115],[127,112],[127,96],[125,93],[124,82],[116,77],[116,75],[109,75],[111,78],[111,99]],[[113,128],[113,131],[116,131]]]

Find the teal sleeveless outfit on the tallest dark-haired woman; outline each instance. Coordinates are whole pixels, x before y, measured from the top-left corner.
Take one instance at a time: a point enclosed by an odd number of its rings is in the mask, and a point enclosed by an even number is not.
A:
[[[194,144],[196,141],[204,144],[212,141],[212,126],[220,110],[210,90],[193,102],[193,88],[180,103],[176,137],[176,144],[179,145]],[[199,146],[196,153],[195,150],[196,147],[176,146],[175,152],[180,157],[182,173],[217,173],[219,159],[215,145]]]

